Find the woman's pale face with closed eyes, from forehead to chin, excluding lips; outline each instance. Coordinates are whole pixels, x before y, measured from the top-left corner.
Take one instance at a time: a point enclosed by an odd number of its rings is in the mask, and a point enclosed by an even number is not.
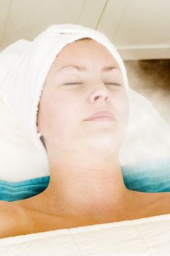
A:
[[[115,120],[85,121],[99,110],[111,111]],[[128,124],[128,96],[120,68],[104,45],[80,39],[58,53],[45,81],[37,120],[47,151],[56,146],[120,148]]]

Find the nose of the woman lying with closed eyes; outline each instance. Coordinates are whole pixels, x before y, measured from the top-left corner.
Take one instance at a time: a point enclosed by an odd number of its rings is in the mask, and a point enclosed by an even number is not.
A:
[[[95,102],[96,100],[109,100],[109,92],[104,86],[97,87],[90,94],[90,102]]]

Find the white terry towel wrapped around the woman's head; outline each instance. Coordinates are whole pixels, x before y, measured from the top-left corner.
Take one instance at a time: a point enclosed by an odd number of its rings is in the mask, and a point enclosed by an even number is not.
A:
[[[125,87],[128,87],[123,61],[104,34],[77,24],[50,26],[26,47],[0,89],[0,94],[12,115],[18,120],[20,127],[31,135],[37,146],[39,139],[36,135],[36,112],[47,72],[65,45],[85,37],[106,46],[117,60],[123,72]]]

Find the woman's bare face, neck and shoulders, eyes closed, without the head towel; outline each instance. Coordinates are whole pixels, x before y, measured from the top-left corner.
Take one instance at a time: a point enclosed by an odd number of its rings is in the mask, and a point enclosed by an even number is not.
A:
[[[50,183],[34,197],[1,202],[0,238],[169,214],[169,193],[131,191],[123,182],[128,111],[123,74],[104,45],[85,38],[63,47],[37,118]]]

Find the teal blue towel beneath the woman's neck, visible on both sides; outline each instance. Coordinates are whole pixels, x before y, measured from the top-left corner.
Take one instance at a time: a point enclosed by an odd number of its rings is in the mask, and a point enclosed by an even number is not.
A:
[[[170,159],[147,161],[121,167],[125,187],[139,192],[170,192]],[[33,197],[43,192],[50,176],[26,181],[0,181],[0,200],[15,201]]]

